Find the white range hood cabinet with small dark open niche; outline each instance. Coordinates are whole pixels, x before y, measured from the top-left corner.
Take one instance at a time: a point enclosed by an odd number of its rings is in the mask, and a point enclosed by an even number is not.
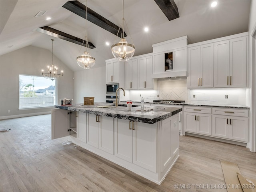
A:
[[[187,36],[152,46],[152,78],[187,76]]]

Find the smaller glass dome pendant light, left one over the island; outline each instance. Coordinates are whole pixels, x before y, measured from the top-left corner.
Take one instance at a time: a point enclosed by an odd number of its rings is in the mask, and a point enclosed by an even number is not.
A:
[[[84,69],[90,69],[95,65],[95,58],[90,56],[89,52],[87,52],[87,46],[89,49],[89,43],[87,40],[87,0],[86,0],[86,8],[85,8],[85,52],[81,56],[76,58],[76,62],[78,65]]]

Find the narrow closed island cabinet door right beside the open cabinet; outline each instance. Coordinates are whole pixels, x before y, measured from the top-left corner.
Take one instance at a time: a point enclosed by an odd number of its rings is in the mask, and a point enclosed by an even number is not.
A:
[[[78,112],[77,138],[86,143],[86,113]]]

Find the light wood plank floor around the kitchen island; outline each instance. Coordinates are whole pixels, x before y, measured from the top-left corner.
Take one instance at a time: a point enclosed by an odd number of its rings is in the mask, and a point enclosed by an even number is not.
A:
[[[11,128],[0,132],[1,192],[225,192],[220,160],[236,162],[244,176],[256,179],[256,153],[180,136],[180,157],[157,185],[74,144],[64,146],[63,138],[51,140],[50,118],[0,121],[0,128]]]

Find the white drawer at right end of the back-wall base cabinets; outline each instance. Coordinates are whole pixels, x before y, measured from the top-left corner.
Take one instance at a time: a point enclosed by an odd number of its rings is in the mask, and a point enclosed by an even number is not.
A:
[[[248,117],[248,110],[230,108],[212,108],[212,114]]]

